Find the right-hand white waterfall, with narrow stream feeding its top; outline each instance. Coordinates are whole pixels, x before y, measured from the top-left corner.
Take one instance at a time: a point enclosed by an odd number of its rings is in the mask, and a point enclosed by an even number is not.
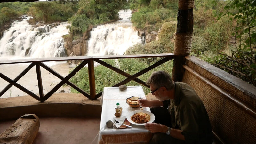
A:
[[[130,21],[131,10],[119,12],[121,20],[92,28],[87,55],[122,55],[134,44],[143,43]]]

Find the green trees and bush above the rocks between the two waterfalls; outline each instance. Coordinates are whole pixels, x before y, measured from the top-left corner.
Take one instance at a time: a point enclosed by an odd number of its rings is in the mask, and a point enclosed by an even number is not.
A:
[[[128,9],[126,0],[80,0],[79,9],[69,21],[72,36],[84,33],[90,24],[97,25],[118,19],[118,12]]]

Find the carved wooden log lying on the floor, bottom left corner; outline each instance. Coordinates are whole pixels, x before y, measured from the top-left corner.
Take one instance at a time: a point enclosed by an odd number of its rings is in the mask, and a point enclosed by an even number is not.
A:
[[[32,144],[39,126],[39,118],[35,114],[23,115],[0,134],[0,144]]]

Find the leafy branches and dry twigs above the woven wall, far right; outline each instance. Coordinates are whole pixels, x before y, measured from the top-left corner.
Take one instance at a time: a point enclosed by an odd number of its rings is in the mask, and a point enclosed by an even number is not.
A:
[[[236,20],[232,34],[235,36],[235,50],[231,55],[220,53],[215,57],[214,65],[256,86],[256,1],[230,1],[219,13],[219,18],[226,15]]]

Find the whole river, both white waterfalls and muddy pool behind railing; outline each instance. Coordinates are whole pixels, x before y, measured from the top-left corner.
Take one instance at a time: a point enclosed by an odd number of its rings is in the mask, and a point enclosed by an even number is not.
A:
[[[132,45],[144,43],[145,39],[138,36],[138,31],[130,21],[131,11],[120,11],[120,20],[109,24],[99,25],[93,28],[88,41],[87,55],[122,55]],[[65,56],[64,41],[62,35],[68,34],[67,22],[58,26],[44,25],[34,28],[24,17],[22,21],[15,21],[11,28],[4,32],[0,40],[0,61],[29,58],[45,58]],[[26,52],[27,51],[27,52]],[[63,62],[45,62],[62,76],[67,76],[74,65]],[[1,65],[0,72],[11,79],[18,76],[29,64]],[[42,84],[44,94],[49,92],[60,79],[41,67]],[[33,67],[24,75],[18,84],[29,91],[39,95],[36,77],[36,68]],[[0,91],[9,83],[0,78]],[[70,92],[69,86],[62,86],[57,92],[64,90]],[[0,98],[17,97],[27,95],[25,92],[12,86]]]

